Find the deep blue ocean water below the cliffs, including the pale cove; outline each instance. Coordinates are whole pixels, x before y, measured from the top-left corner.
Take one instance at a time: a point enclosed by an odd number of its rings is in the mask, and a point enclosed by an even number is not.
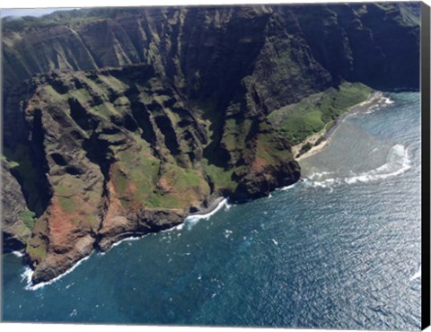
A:
[[[3,319],[419,329],[419,93],[388,96],[271,197],[93,253],[38,290],[4,255]]]

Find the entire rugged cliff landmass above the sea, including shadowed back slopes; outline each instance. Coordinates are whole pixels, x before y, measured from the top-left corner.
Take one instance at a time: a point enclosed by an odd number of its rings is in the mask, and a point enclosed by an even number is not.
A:
[[[34,283],[216,197],[295,183],[291,144],[364,100],[361,83],[418,89],[418,4],[105,8],[3,23],[4,246],[24,248]],[[310,96],[306,112],[286,108]]]

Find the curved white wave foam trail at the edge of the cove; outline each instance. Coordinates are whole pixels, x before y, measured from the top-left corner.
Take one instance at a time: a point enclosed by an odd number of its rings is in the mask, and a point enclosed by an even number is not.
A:
[[[319,180],[310,181],[308,186],[314,188],[328,188],[341,183],[347,183],[349,185],[357,182],[366,183],[400,175],[410,168],[411,162],[409,160],[408,149],[402,144],[395,144],[391,147],[391,150],[386,157],[386,162],[374,170],[368,170],[360,174],[353,174],[353,176],[347,178],[335,179],[320,179],[322,175],[330,174],[328,172],[316,173],[309,177],[309,179],[319,178]]]

